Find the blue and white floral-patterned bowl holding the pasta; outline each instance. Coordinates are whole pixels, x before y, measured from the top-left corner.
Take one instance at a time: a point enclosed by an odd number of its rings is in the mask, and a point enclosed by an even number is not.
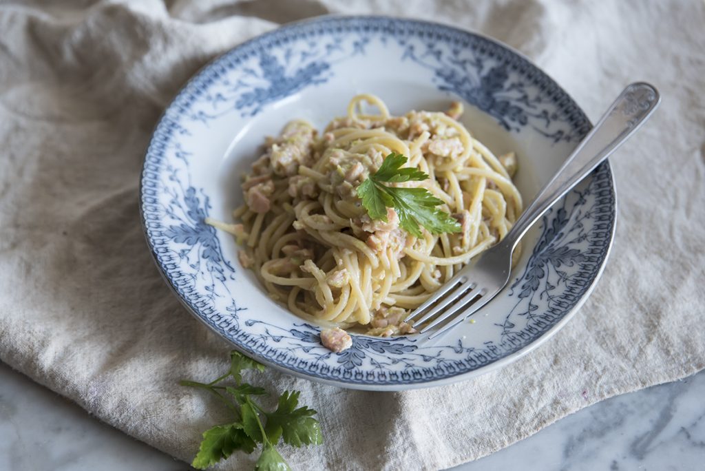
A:
[[[193,314],[235,348],[300,377],[357,389],[447,384],[506,365],[560,329],[607,259],[615,195],[603,164],[523,241],[513,280],[435,344],[354,336],[331,353],[319,327],[271,301],[235,262],[231,221],[239,175],[265,135],[292,118],[322,127],[353,95],[379,95],[394,114],[465,102],[465,126],[496,154],[515,150],[527,201],[590,123],[561,88],[492,39],[453,27],[382,17],[319,18],[282,27],[216,59],[168,106],[147,150],[141,207],[149,247]]]

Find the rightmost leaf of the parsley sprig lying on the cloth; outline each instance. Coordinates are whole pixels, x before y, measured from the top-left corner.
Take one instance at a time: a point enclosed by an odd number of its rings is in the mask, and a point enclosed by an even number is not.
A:
[[[311,417],[316,411],[306,406],[296,408],[299,391],[284,391],[274,412],[266,413],[264,432],[276,444],[283,436],[284,443],[292,446],[322,444],[323,435],[318,420]]]

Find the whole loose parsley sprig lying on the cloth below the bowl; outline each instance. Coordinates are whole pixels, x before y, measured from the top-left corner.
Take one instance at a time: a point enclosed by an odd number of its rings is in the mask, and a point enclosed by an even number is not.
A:
[[[216,425],[203,432],[203,441],[191,465],[203,470],[220,460],[228,458],[235,451],[252,453],[257,444],[262,444],[262,452],[255,464],[260,471],[290,471],[289,465],[276,451],[276,444],[283,438],[291,446],[322,444],[323,435],[318,420],[312,416],[316,411],[306,406],[297,408],[298,391],[284,391],[279,397],[279,404],[274,412],[267,412],[252,399],[252,396],[266,394],[264,388],[243,383],[244,369],[264,371],[264,365],[233,350],[230,353],[231,365],[226,374],[211,381],[181,381],[182,386],[206,389],[228,406],[234,421],[230,424]],[[231,378],[235,386],[223,386],[221,383]]]

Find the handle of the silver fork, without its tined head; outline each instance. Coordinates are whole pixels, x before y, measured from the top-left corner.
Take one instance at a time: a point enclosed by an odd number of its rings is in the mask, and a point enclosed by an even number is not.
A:
[[[517,219],[502,241],[502,245],[508,244],[514,247],[553,203],[563,197],[642,126],[659,102],[661,97],[654,86],[644,82],[627,85],[606,114],[565,160],[556,175]]]

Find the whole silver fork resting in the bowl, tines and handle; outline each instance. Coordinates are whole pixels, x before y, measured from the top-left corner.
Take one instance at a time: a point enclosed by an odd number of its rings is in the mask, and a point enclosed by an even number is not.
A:
[[[420,332],[425,333],[455,314],[455,318],[429,336],[434,338],[453,329],[486,305],[508,283],[514,248],[526,231],[553,203],[580,183],[601,161],[635,133],[651,116],[659,102],[661,97],[658,91],[648,83],[636,82],[628,85],[517,219],[507,236],[484,252],[477,263],[458,271],[458,274],[441,286],[429,300],[412,312],[406,322],[411,322],[423,314],[413,324],[414,328],[418,328],[436,316],[421,329]]]

